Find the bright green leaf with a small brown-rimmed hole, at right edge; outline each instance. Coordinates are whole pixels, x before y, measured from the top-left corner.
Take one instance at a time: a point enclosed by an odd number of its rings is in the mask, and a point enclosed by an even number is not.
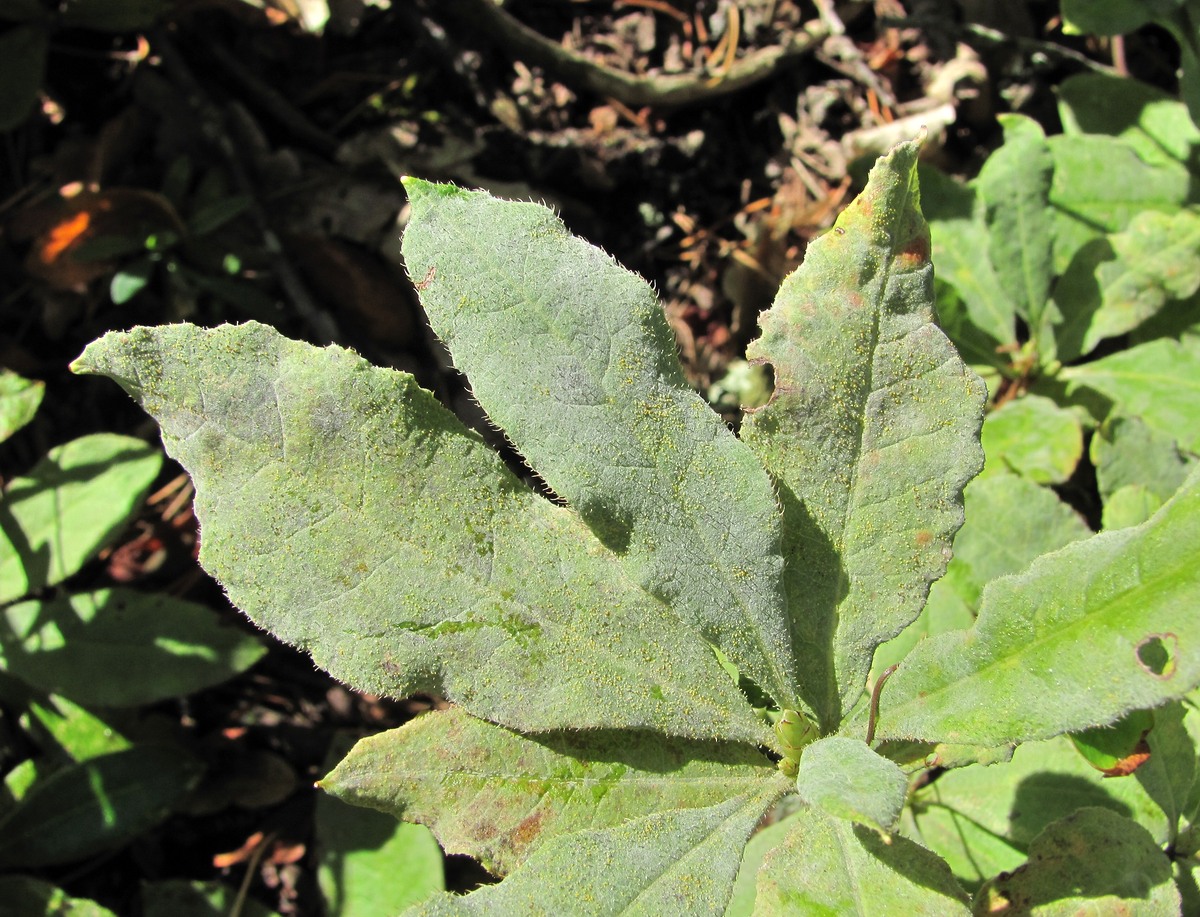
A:
[[[1145,525],[992,581],[971,630],[918,645],[887,683],[878,735],[998,745],[1183,696],[1200,683],[1198,546],[1193,473]]]

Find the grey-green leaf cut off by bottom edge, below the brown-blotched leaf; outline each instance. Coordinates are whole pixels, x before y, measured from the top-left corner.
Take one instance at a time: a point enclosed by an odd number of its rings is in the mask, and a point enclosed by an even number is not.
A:
[[[558,837],[499,885],[461,898],[438,895],[404,913],[719,917],[746,838],[778,797],[772,784],[716,805]]]

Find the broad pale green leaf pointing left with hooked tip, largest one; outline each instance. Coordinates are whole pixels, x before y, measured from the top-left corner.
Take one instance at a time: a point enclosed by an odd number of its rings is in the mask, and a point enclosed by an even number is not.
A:
[[[530,731],[763,739],[710,649],[410,376],[259,324],[109,334],[76,368],[158,420],[230,599],[336,677]]]

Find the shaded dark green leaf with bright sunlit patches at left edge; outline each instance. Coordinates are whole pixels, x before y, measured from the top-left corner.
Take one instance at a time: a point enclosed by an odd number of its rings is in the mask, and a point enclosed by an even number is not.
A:
[[[244,672],[265,652],[204,605],[136,589],[0,610],[0,663],[10,675],[102,707],[192,694]]]

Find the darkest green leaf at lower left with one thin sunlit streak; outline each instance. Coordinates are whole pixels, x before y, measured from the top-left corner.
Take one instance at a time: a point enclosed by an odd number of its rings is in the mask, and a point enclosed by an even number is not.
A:
[[[0,867],[70,863],[127,844],[170,814],[203,766],[174,745],[134,745],[56,771],[0,820]]]

